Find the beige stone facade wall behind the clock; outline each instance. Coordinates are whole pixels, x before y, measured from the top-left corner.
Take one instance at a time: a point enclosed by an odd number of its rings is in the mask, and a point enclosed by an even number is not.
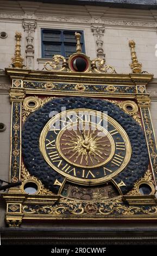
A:
[[[26,1],[0,1],[0,34],[7,33],[7,38],[0,38],[0,122],[7,126],[0,132],[0,172],[1,178],[9,179],[10,157],[10,81],[4,69],[11,64],[15,51],[15,32],[22,33],[21,54],[24,64],[41,70],[45,59],[41,58],[41,28],[72,29],[84,31],[85,51],[91,59],[97,56],[97,36],[91,27],[104,28],[102,35],[103,51],[106,64],[115,67],[118,74],[130,73],[129,40],[136,42],[136,53],[142,70],[154,74],[154,80],[148,85],[152,96],[150,108],[157,136],[157,10],[131,10],[109,7],[44,4]],[[27,29],[22,22],[35,23],[32,33],[33,58],[28,63],[26,58]],[[156,55],[155,55],[156,51]],[[2,210],[1,210],[2,209]],[[0,227],[4,224],[3,202],[0,203]]]

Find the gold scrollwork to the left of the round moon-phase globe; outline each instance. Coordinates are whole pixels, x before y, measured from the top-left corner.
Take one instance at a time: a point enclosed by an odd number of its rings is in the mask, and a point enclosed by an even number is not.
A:
[[[61,55],[54,55],[51,62],[45,62],[44,68],[48,71],[66,71],[66,58]]]

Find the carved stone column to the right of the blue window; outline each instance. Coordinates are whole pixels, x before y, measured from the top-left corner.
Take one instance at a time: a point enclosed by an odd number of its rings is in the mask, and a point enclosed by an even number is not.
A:
[[[96,46],[97,46],[97,57],[98,58],[104,58],[105,53],[103,50],[103,35],[105,31],[105,27],[95,27],[91,26],[91,31],[93,32],[93,35],[95,36],[96,39]]]

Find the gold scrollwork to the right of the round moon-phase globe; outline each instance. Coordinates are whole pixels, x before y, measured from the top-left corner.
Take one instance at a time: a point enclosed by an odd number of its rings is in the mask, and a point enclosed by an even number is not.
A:
[[[105,59],[96,58],[92,60],[91,69],[96,73],[108,73],[108,74],[116,74],[116,70],[111,65],[105,64]]]

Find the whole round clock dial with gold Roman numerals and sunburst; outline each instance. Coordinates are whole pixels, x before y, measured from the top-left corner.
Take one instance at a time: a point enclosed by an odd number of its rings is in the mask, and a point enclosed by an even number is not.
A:
[[[56,114],[40,135],[40,150],[56,172],[78,184],[101,184],[127,166],[127,133],[105,113],[72,109]]]

